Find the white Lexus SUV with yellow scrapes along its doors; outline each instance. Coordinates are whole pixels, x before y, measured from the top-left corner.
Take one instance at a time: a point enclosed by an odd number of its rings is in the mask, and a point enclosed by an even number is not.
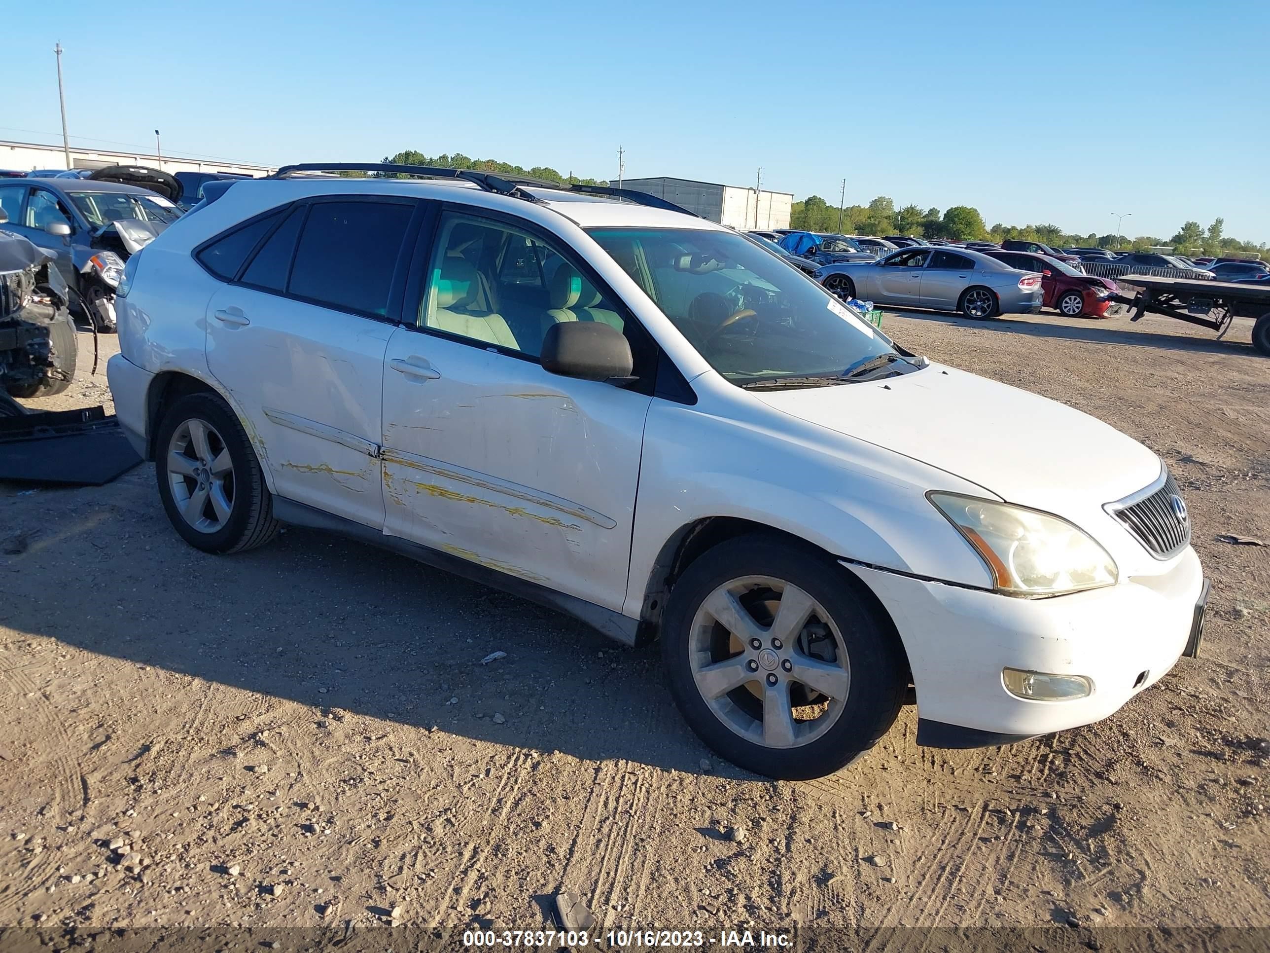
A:
[[[128,260],[110,389],[192,545],[328,527],[659,637],[697,734],[777,778],[914,699],[923,745],[1087,724],[1194,653],[1142,445],[702,219],[420,172],[225,183]]]

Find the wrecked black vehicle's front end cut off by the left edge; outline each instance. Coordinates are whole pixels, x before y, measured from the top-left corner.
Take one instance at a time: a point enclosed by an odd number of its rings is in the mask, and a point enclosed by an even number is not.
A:
[[[5,213],[0,210],[0,226]],[[79,341],[66,282],[43,249],[0,230],[0,388],[18,398],[60,394],[75,376]],[[0,408],[0,414],[13,405]]]

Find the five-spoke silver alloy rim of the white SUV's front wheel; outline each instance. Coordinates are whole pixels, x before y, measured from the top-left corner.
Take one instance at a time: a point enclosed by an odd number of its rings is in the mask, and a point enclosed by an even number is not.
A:
[[[798,586],[767,576],[732,579],[702,600],[688,657],[715,717],[770,748],[822,737],[851,691],[851,665],[834,620]]]

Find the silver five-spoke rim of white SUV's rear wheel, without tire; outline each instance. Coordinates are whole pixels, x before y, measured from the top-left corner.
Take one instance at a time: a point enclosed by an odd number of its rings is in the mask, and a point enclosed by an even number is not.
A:
[[[168,442],[168,484],[182,518],[199,532],[224,529],[234,512],[234,461],[207,421],[184,421]]]

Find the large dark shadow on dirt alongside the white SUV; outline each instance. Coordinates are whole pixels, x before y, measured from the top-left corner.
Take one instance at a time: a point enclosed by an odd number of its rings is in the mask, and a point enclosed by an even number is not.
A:
[[[315,717],[338,709],[687,773],[712,759],[679,718],[655,648],[627,649],[514,596],[309,530],[206,555],[171,530],[149,466],[0,504],[0,537],[27,540],[0,555],[11,596],[0,624],[19,633],[290,699]],[[507,656],[483,663],[495,652]]]

